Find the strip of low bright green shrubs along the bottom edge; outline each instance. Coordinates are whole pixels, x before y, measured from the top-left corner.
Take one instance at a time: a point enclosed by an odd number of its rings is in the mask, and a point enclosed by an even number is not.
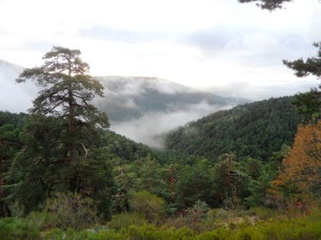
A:
[[[127,217],[127,216],[126,216]],[[121,230],[61,230],[41,232],[27,218],[2,218],[1,240],[320,240],[321,219],[294,218],[262,221],[255,225],[240,223],[229,228],[221,225],[214,230],[197,233],[188,227],[166,227],[144,223]]]

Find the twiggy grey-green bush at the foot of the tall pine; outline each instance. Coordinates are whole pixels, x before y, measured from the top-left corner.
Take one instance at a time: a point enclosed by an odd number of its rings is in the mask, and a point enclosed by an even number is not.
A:
[[[57,227],[64,230],[68,227],[80,230],[98,222],[94,200],[77,193],[58,193],[56,198],[46,200],[44,210],[55,214]]]

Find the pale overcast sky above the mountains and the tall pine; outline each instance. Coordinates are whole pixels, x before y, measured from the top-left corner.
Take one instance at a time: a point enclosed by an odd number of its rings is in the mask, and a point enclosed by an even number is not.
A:
[[[237,0],[0,0],[0,59],[40,65],[52,45],[80,49],[94,75],[160,77],[251,99],[316,85],[281,60],[314,56],[321,3],[272,13]]]

